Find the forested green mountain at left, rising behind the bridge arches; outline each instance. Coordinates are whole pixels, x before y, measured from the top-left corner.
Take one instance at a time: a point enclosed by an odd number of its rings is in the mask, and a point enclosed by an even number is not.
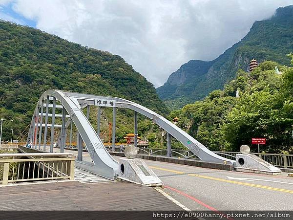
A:
[[[16,134],[29,123],[42,92],[50,88],[117,96],[158,113],[168,111],[154,86],[120,56],[4,21],[0,85],[0,117],[14,118]]]

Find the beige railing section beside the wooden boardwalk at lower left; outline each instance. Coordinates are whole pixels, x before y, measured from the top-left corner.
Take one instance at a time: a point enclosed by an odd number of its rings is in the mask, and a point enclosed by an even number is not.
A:
[[[71,153],[0,154],[0,183],[74,179],[74,165]]]

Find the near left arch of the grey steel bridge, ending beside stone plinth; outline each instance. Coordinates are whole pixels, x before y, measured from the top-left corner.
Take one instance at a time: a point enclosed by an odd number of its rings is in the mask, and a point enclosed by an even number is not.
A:
[[[102,140],[89,123],[77,100],[66,95],[63,91],[47,90],[42,94],[32,117],[27,143],[32,143],[33,147],[37,147],[37,141],[35,141],[37,140],[37,133],[35,132],[37,130],[35,126],[38,126],[39,123],[36,124],[36,118],[39,115],[40,107],[42,107],[42,100],[46,100],[48,97],[56,98],[69,113],[71,120],[75,124],[95,164],[96,172],[101,176],[114,179],[115,175],[118,173],[118,162],[105,149]],[[40,126],[42,125],[40,124]],[[53,123],[51,126],[53,127]]]

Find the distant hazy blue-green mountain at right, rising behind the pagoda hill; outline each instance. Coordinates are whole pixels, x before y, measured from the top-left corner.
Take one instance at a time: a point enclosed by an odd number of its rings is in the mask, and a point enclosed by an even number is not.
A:
[[[212,34],[212,33],[211,33]],[[273,60],[290,65],[285,56],[293,51],[293,5],[278,8],[272,18],[253,23],[249,33],[213,61],[191,60],[172,73],[157,88],[169,108],[180,108],[203,99],[212,90],[222,89],[235,78],[239,68],[248,70],[254,57],[259,63]]]

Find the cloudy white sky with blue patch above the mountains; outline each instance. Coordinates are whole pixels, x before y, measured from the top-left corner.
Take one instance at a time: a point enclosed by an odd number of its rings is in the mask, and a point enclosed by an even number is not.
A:
[[[0,19],[109,51],[155,87],[210,61],[293,0],[0,0]]]

